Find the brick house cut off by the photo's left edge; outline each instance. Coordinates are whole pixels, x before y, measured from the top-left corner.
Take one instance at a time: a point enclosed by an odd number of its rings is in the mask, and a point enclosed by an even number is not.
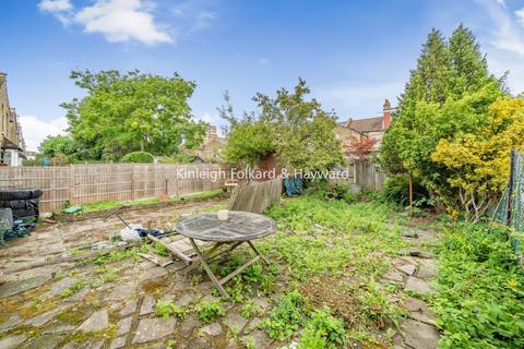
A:
[[[0,165],[20,166],[25,142],[16,110],[9,104],[7,74],[0,72]]]

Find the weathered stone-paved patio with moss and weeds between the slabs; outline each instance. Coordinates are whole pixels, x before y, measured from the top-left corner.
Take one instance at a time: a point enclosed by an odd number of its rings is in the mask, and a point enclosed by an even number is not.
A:
[[[179,215],[213,212],[224,205],[224,200],[156,205],[127,209],[123,216],[130,222],[147,226],[151,221],[154,227],[168,228]],[[0,348],[281,348],[299,340],[300,328],[291,338],[282,340],[278,336],[270,338],[269,332],[261,327],[263,321],[271,317],[270,312],[278,300],[285,297],[289,281],[306,276],[291,277],[296,266],[284,263],[285,256],[278,264],[273,263],[270,272],[248,269],[242,280],[233,280],[228,290],[231,297],[227,300],[218,298],[215,290],[210,291],[212,284],[202,269],[186,276],[179,270],[184,265],[181,262],[159,267],[139,256],[139,252],[145,251],[143,246],[88,261],[49,264],[59,256],[81,256],[80,246],[106,240],[109,231],[121,227],[117,217],[43,224],[32,236],[10,241],[1,249],[0,270],[19,272],[5,273],[7,282],[0,286]],[[283,229],[288,228],[284,226]],[[321,225],[315,225],[314,229],[319,234],[326,231]],[[287,231],[276,239],[295,238],[293,234]],[[425,231],[403,232],[402,239],[407,241],[407,248],[415,240],[424,242],[422,245],[433,241],[431,233]],[[279,252],[271,251],[269,245],[263,249],[275,260]],[[278,246],[283,245],[281,240]],[[148,249],[151,252],[152,248]],[[377,255],[371,260],[374,257]],[[242,253],[237,254],[233,262],[225,264],[225,269],[240,265],[241,258]],[[384,287],[395,286],[388,291],[388,302],[402,308],[403,316],[410,318],[402,323],[404,338],[400,332],[382,328],[373,340],[381,338],[382,342],[397,348],[407,348],[405,345],[430,348],[438,339],[434,315],[424,301],[401,291],[409,287],[414,293],[430,291],[427,279],[434,276],[433,255],[415,250],[402,257],[388,256],[386,261],[385,269],[389,270],[381,282]],[[27,268],[36,263],[46,265]],[[216,270],[216,264],[212,267]],[[330,277],[330,268],[315,277],[347,282],[348,278]],[[346,272],[349,273],[349,268]],[[272,277],[271,285],[270,281],[265,285],[263,274]],[[356,282],[356,278],[353,281]],[[335,284],[331,286],[336,288]],[[319,306],[329,305],[333,296],[323,297],[315,282],[302,280],[299,289]],[[352,299],[331,301],[343,306]],[[167,306],[166,312],[159,309],[160,304]],[[344,314],[343,309],[337,311]],[[359,347],[366,341],[352,339],[349,345]]]

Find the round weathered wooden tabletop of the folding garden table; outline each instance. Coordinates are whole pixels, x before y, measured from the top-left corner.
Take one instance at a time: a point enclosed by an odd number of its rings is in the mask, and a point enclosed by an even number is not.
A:
[[[229,242],[260,239],[275,232],[276,227],[276,222],[265,216],[229,210],[227,220],[218,220],[216,213],[188,216],[175,230],[191,239]]]

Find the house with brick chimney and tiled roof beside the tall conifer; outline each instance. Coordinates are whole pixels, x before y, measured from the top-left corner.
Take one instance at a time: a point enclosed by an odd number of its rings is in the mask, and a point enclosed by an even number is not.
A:
[[[385,130],[388,130],[393,120],[393,110],[395,108],[392,108],[391,103],[385,99],[382,116],[349,118],[347,121],[340,122],[335,131],[337,137],[343,142],[344,147],[366,139],[372,140],[374,141],[373,151],[377,152],[382,143]]]

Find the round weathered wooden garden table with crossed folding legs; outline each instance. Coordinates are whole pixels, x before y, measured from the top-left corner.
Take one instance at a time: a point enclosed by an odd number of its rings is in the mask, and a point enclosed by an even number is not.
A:
[[[211,280],[224,297],[228,297],[223,287],[224,284],[259,260],[269,263],[254,246],[252,240],[266,237],[275,232],[276,228],[276,222],[271,218],[239,210],[229,210],[227,220],[218,220],[216,213],[191,215],[175,226],[177,232],[189,239],[194,252],[199,256],[199,260],[193,266],[202,263]],[[211,241],[214,242],[214,245],[204,252],[194,240]],[[218,280],[207,263],[221,254],[235,250],[242,243],[247,243],[254,251],[255,256],[239,266],[228,276]]]

